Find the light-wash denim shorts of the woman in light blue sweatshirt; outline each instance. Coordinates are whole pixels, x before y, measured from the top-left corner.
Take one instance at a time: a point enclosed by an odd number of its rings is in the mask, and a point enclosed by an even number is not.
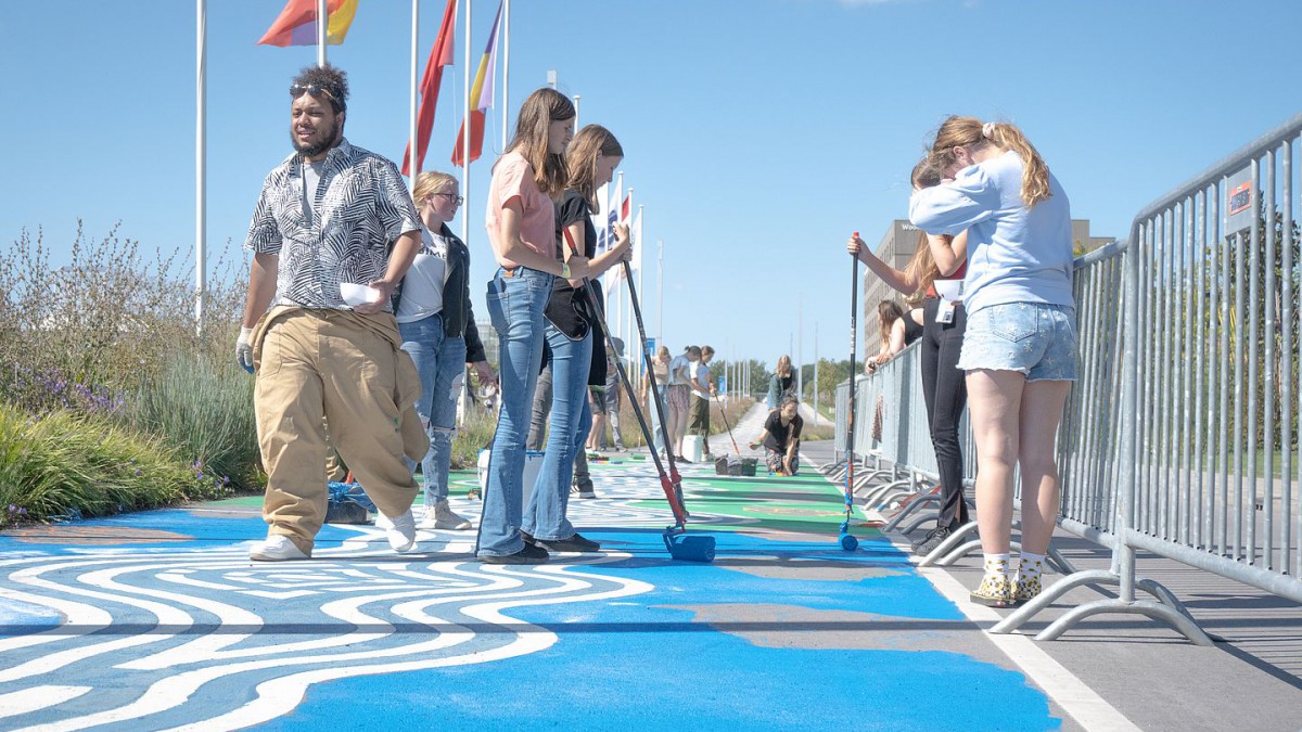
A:
[[[1027,382],[1074,382],[1075,341],[1070,305],[991,305],[967,315],[958,367],[1019,371]]]

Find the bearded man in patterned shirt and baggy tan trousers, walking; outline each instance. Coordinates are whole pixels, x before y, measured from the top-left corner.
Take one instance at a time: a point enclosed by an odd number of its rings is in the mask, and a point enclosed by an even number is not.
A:
[[[250,559],[307,559],[326,517],[329,443],[415,547],[417,485],[402,462],[430,448],[414,404],[421,380],[401,350],[389,296],[421,244],[421,220],[392,162],[344,139],[348,79],[303,69],[289,87],[296,152],[262,186],[236,357],[256,370],[254,408],[267,469],[267,539]],[[270,307],[270,309],[268,309]]]

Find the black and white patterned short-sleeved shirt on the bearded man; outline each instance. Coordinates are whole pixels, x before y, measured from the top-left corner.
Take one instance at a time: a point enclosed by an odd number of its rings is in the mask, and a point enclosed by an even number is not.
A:
[[[397,165],[346,139],[326,155],[315,215],[303,211],[302,168],[296,152],[267,175],[245,249],[280,255],[272,306],[352,310],[340,283],[381,279],[389,245],[421,219]]]

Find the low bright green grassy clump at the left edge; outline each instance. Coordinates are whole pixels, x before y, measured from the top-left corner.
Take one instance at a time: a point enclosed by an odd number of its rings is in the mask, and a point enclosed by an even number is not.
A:
[[[66,410],[30,417],[0,404],[0,526],[229,494],[168,445],[104,418]]]

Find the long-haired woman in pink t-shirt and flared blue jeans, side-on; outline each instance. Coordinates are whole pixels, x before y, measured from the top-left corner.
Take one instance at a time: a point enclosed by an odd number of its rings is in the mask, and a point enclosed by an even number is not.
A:
[[[565,146],[574,137],[574,106],[539,89],[519,106],[516,138],[492,171],[486,224],[497,274],[488,283],[488,315],[497,331],[501,408],[488,461],[475,554],[493,564],[538,564],[547,550],[519,533],[525,438],[543,358],[543,309],[552,280],[587,275],[587,259],[556,258],[556,201],[565,190]]]

